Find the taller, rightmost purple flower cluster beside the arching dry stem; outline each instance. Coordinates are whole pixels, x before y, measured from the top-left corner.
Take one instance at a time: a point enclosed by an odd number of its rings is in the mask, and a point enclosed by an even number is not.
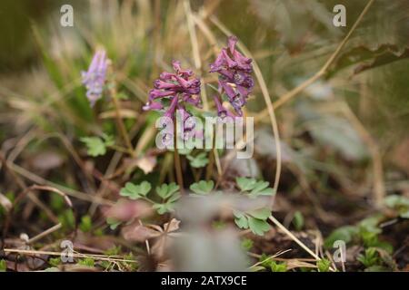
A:
[[[234,111],[242,116],[242,108],[254,87],[251,75],[253,66],[252,59],[235,49],[236,43],[235,36],[228,38],[227,47],[224,47],[214,63],[210,64],[210,73],[219,73],[219,92],[227,95]],[[217,101],[220,103],[218,99]],[[216,102],[215,99],[214,102]]]

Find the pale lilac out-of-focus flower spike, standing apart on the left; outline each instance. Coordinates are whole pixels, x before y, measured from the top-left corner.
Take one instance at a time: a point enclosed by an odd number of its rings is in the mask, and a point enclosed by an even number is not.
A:
[[[101,99],[104,90],[106,71],[109,60],[106,58],[104,50],[99,50],[94,54],[93,60],[87,72],[81,72],[82,82],[86,88],[86,97],[94,107],[95,102]]]

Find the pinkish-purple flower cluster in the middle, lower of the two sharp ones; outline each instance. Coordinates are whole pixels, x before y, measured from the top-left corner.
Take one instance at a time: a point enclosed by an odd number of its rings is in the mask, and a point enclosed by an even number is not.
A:
[[[201,108],[200,80],[194,77],[192,70],[183,70],[180,62],[172,63],[175,73],[161,73],[159,79],[154,82],[155,89],[149,92],[149,99],[143,110],[160,111],[165,107],[164,101],[170,102],[165,109],[164,117],[175,120],[175,112],[181,114],[183,121],[184,139],[194,133],[195,121],[192,115],[186,111],[185,104],[190,103],[197,108]],[[167,136],[169,137],[169,136]]]

